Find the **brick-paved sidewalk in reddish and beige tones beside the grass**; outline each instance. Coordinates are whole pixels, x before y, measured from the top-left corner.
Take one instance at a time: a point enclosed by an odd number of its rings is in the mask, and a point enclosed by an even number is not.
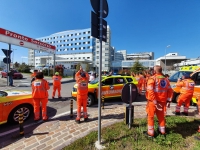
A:
[[[145,118],[145,105],[134,104],[134,118]],[[173,115],[175,107],[167,110],[167,115]],[[194,115],[196,108],[189,109],[189,115]],[[125,105],[110,105],[102,109],[101,127],[106,127],[124,120]],[[5,139],[0,144],[3,150],[60,150],[75,140],[86,136],[91,131],[98,130],[98,110],[88,108],[89,121],[81,120],[77,124],[75,114],[73,118],[69,115],[57,119],[50,119],[48,122],[37,124],[32,131],[26,132],[25,136],[19,138],[19,132],[12,134],[11,138]],[[127,126],[128,128],[128,126]],[[6,135],[9,136],[9,135]]]

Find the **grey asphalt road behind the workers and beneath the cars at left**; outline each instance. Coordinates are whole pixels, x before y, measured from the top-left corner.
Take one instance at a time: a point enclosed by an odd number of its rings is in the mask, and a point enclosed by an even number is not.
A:
[[[31,91],[31,86],[30,86],[30,74],[23,74],[24,78],[23,79],[14,79],[14,87],[9,87],[7,85],[7,78],[0,78],[0,90],[5,90],[5,89],[15,89],[15,90],[26,90],[26,91]],[[52,81],[51,78],[46,77],[47,81]],[[66,79],[65,79],[66,80]],[[52,84],[50,84],[50,90],[49,90],[49,102],[48,102],[48,116],[50,118],[56,118],[62,116],[63,118],[68,118],[69,117],[69,112],[70,112],[70,102],[71,102],[71,90],[72,87],[74,86],[75,82],[72,79],[67,79],[66,82],[62,83],[62,89],[61,89],[61,96],[62,99],[58,99],[57,97],[55,99],[52,99]],[[144,96],[140,96],[137,98],[138,103],[145,103],[146,100]],[[105,107],[107,105],[112,105],[113,103],[120,103],[122,104],[121,99],[110,99],[105,101]],[[73,101],[73,109],[76,110],[76,102]],[[90,109],[97,109],[98,108],[98,103],[96,102],[92,108]],[[89,113],[89,112],[88,112]],[[75,118],[75,117],[74,117]],[[34,124],[33,120],[33,115],[26,121],[24,122],[25,127],[29,127],[30,125]],[[19,130],[19,125],[13,125],[13,124],[3,124],[0,125],[0,141],[1,139],[3,140],[4,134],[10,133],[12,131],[18,131]]]

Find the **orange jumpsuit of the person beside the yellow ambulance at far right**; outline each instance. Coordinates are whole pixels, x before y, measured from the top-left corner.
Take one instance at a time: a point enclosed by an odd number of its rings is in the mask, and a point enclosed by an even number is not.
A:
[[[176,113],[180,113],[180,108],[183,103],[185,103],[184,113],[188,113],[190,101],[192,99],[193,92],[194,92],[194,85],[195,83],[192,79],[184,79],[176,83],[176,86],[181,87],[180,95],[178,97],[177,105],[176,105]]]

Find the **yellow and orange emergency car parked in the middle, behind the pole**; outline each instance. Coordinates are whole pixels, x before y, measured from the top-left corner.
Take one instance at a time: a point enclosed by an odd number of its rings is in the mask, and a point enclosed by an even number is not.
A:
[[[126,83],[138,84],[137,80],[132,76],[102,76],[102,95],[104,98],[120,98],[122,93],[122,88]],[[98,99],[98,86],[99,78],[88,83],[88,106],[92,106],[94,101]],[[74,85],[72,92],[72,97],[76,100],[77,97],[77,84]]]

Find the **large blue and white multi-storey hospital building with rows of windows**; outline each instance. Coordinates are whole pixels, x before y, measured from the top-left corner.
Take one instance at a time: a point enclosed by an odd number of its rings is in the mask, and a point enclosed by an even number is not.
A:
[[[37,40],[56,46],[56,64],[75,69],[78,63],[87,63],[91,69],[98,70],[100,42],[91,36],[91,28],[58,32]],[[107,42],[102,42],[102,70],[110,70],[111,52],[111,30],[108,26]],[[29,49],[28,64],[35,67],[53,65],[53,56]]]

